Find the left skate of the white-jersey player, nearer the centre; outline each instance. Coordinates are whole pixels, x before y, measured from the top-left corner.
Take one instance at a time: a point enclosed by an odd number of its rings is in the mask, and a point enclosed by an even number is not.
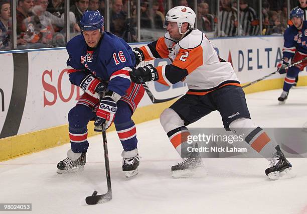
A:
[[[199,152],[191,152],[188,157],[175,166],[172,166],[172,177],[186,178],[194,175],[195,170],[203,167],[203,161]]]

